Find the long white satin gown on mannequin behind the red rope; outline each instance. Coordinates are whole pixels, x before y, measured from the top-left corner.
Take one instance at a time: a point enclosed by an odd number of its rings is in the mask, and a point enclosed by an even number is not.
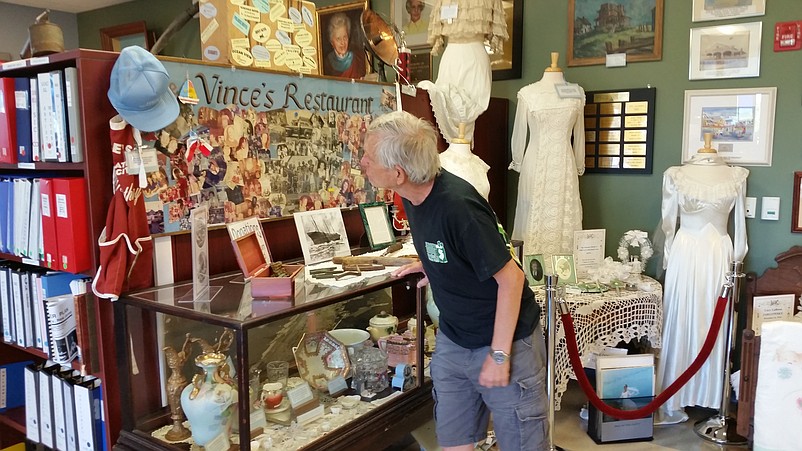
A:
[[[730,262],[743,261],[746,242],[745,195],[749,171],[727,166],[710,146],[663,175],[661,230],[665,234],[663,267],[664,322],[657,382],[665,388],[690,365],[702,347],[718,293]],[[733,238],[728,234],[733,212]],[[677,225],[679,223],[679,228]],[[721,405],[727,340],[719,331],[710,358],[658,412],[659,423],[687,420],[685,406]]]

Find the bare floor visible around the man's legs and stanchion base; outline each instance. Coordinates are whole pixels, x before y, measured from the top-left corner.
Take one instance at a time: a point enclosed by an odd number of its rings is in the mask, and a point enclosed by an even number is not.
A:
[[[690,420],[671,426],[655,426],[654,439],[648,442],[617,443],[597,445],[587,435],[587,422],[579,418],[579,410],[586,398],[579,385],[572,381],[562,399],[562,409],[555,412],[554,444],[565,451],[744,451],[747,447],[720,446],[703,440],[693,431],[697,421],[706,419],[716,412],[707,409],[687,409]],[[435,451],[440,448],[434,445],[432,423],[427,423],[423,430],[415,434],[424,444],[416,442],[414,437],[407,436],[402,441],[388,447],[386,451]],[[426,447],[428,445],[428,447]],[[505,450],[507,451],[507,450]]]

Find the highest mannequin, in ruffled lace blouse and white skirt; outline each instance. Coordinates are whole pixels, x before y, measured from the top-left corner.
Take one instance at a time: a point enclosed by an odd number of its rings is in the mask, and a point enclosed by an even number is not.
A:
[[[456,17],[443,19],[443,6],[456,5]],[[473,141],[476,118],[490,102],[493,74],[484,42],[500,48],[506,40],[507,25],[501,0],[436,0],[429,19],[432,54],[445,47],[437,80],[424,80],[418,87],[429,92],[434,116],[446,141],[459,138],[459,124],[465,124],[464,139]]]

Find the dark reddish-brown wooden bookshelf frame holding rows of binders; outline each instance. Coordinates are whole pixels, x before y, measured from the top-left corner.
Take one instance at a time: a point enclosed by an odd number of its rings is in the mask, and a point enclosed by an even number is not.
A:
[[[80,163],[0,163],[0,177],[21,175],[23,177],[81,177],[86,180],[88,215],[87,225],[92,249],[90,269],[83,273],[93,276],[98,267],[97,243],[105,225],[107,206],[112,197],[111,142],[108,121],[116,113],[109,103],[106,92],[109,75],[117,59],[117,53],[76,49],[46,57],[32,58],[23,62],[15,61],[2,65],[0,77],[35,77],[67,67],[77,69],[79,123],[83,143],[83,162]],[[21,258],[0,252],[0,260],[19,262],[33,267],[45,267],[44,262]],[[97,349],[93,349],[94,368],[92,374],[103,381],[104,415],[106,418],[106,438],[111,445],[117,440],[120,429],[119,389],[117,384],[116,355],[114,352],[114,322],[110,302],[88,296],[91,303],[89,311],[94,318],[87,324],[94,325]],[[80,314],[80,312],[79,312]],[[35,348],[25,348],[8,343],[0,343],[0,363],[24,360],[42,361],[45,354]],[[78,368],[79,364],[74,364]],[[16,443],[25,437],[24,408],[11,409],[0,413],[0,448]]]

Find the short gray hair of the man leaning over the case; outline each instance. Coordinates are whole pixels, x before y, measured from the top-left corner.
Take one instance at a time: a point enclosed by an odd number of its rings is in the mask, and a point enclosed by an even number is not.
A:
[[[437,131],[423,119],[394,111],[374,120],[365,139],[368,137],[375,140],[378,162],[386,168],[398,165],[412,183],[429,182],[440,171]]]

